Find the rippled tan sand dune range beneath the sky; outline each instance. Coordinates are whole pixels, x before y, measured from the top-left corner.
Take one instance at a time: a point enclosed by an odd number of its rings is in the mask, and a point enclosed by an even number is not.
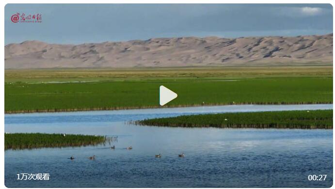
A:
[[[5,69],[333,64],[333,33],[297,37],[178,37],[5,46]]]

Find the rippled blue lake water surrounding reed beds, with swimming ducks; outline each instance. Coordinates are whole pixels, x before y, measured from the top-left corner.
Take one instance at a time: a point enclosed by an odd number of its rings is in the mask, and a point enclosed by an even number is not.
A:
[[[180,114],[333,109],[333,105],[220,106],[5,115],[5,132],[117,135],[111,145],[5,151],[7,187],[331,187],[333,130],[134,126]],[[132,145],[132,150],[126,147]],[[185,157],[178,154],[184,152]],[[155,158],[156,154],[161,158]],[[74,156],[70,160],[67,157]],[[95,160],[87,157],[96,155]],[[50,173],[48,181],[17,173]],[[309,174],[327,174],[308,181]]]

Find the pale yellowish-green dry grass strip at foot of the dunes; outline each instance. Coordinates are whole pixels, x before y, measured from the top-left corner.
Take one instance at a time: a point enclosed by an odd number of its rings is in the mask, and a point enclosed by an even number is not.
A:
[[[5,82],[333,77],[333,66],[249,66],[5,70]]]

